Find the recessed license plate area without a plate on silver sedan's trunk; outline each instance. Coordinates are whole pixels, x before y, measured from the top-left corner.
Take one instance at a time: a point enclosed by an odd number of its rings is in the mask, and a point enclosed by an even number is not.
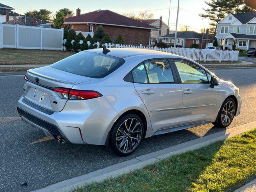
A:
[[[28,86],[25,98],[34,104],[43,106],[44,108],[52,108],[49,94],[40,89]]]

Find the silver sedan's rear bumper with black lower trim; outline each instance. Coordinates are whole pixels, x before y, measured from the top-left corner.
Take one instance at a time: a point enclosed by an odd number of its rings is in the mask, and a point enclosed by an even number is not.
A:
[[[24,122],[52,138],[62,136],[73,144],[104,145],[113,119],[118,116],[104,97],[68,101],[62,111],[47,114],[28,105],[22,96],[17,109]]]

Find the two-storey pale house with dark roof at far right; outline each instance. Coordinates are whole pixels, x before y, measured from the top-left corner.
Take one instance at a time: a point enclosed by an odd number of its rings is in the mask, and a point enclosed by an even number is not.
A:
[[[223,48],[256,48],[256,11],[228,14],[217,23],[216,38]]]

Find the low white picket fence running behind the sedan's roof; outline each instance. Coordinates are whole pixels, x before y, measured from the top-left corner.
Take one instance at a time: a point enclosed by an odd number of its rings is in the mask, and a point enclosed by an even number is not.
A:
[[[66,39],[63,40],[63,43],[66,42]],[[73,44],[74,40],[72,40]],[[83,41],[80,40],[80,44],[83,43]],[[91,44],[90,41],[87,42],[88,46]],[[97,48],[100,46],[100,42],[95,42],[97,45]],[[156,51],[162,51],[167,52],[171,54],[176,54],[179,56],[184,56],[186,58],[190,58],[192,60],[198,61],[237,61],[238,60],[238,51],[222,51],[222,50],[206,50],[206,49],[192,49],[192,48],[158,48],[158,47],[149,47],[149,46],[142,46],[140,45],[122,45],[122,44],[114,44],[114,43],[105,43],[103,45],[105,48],[140,48],[140,49],[149,49],[149,50],[156,50]],[[66,48],[63,48],[66,50]],[[80,50],[79,50],[80,51]]]

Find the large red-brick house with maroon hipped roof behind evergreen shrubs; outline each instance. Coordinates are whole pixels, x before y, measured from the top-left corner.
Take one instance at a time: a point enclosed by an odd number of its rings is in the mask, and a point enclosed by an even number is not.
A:
[[[66,18],[64,26],[68,25],[76,31],[84,32],[95,32],[97,28],[103,27],[113,42],[122,34],[126,44],[147,46],[150,43],[151,31],[159,30],[110,10],[97,10],[85,14],[80,12],[78,8],[76,16]]]

